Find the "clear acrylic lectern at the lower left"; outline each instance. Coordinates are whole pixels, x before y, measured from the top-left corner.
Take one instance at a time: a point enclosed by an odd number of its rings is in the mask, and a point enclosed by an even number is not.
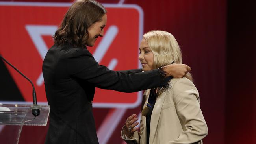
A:
[[[40,115],[33,116],[32,109],[40,109]],[[50,105],[0,104],[0,126],[9,125],[10,143],[18,144],[22,126],[46,126],[49,113]]]

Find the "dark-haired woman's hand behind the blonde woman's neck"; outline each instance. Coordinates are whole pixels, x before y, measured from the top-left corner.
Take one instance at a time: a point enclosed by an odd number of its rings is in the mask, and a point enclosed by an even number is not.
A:
[[[174,63],[164,66],[163,70],[166,72],[167,76],[173,76],[173,78],[182,78],[191,70],[191,68],[185,64]]]

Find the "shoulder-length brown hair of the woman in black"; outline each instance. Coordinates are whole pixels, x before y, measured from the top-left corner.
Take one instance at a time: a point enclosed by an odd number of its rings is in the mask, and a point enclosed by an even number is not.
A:
[[[55,32],[54,44],[85,47],[89,37],[87,29],[100,21],[106,12],[105,7],[95,0],[77,0],[69,8]]]

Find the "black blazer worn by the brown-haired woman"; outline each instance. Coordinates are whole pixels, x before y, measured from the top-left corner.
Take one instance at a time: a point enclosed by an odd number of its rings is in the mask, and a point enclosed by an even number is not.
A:
[[[48,50],[43,76],[51,106],[45,144],[98,144],[91,104],[95,87],[136,92],[162,86],[159,70],[112,71],[86,48],[70,45]]]

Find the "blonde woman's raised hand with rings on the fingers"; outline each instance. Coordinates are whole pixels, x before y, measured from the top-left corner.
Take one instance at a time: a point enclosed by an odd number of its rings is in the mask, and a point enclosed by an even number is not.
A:
[[[124,126],[124,133],[128,138],[134,135],[134,132],[139,129],[138,127],[135,127],[139,124],[139,122],[136,122],[138,119],[136,114],[132,114],[127,118]]]

